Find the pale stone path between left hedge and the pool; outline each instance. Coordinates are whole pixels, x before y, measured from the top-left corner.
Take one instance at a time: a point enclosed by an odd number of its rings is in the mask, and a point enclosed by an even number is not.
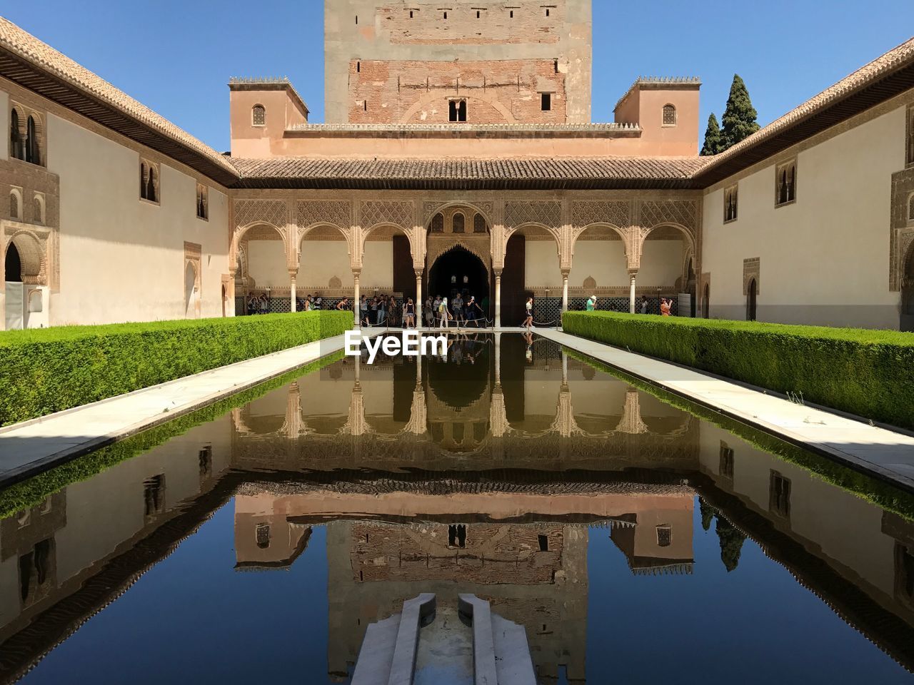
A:
[[[0,486],[269,381],[338,352],[343,344],[342,335],[309,342],[0,428]]]

